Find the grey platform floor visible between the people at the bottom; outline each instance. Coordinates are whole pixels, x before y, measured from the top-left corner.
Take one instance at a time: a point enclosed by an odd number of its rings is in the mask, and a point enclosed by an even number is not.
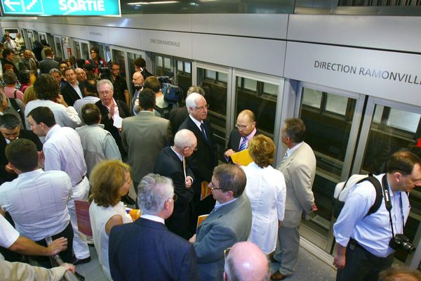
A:
[[[102,268],[98,263],[98,256],[95,248],[89,247],[91,250],[91,262],[76,266],[76,271],[86,277],[86,281],[102,281],[107,280],[102,273]],[[277,270],[276,263],[271,263],[271,272]],[[300,248],[296,272],[293,276],[288,277],[287,281],[330,281],[335,280],[336,270],[328,266],[326,263],[318,259],[309,251]]]

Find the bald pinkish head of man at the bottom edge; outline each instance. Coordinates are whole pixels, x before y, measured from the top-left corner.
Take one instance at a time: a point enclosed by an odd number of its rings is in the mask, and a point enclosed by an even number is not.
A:
[[[224,281],[269,280],[269,262],[265,254],[252,242],[238,242],[225,259]]]

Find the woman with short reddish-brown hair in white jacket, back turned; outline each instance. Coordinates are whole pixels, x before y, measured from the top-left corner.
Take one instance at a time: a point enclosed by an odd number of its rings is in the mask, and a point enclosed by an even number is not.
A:
[[[248,241],[265,253],[276,248],[278,228],[285,214],[286,185],[274,162],[275,145],[267,136],[258,135],[248,143],[253,162],[244,166],[247,176],[246,195],[251,204],[252,223]]]

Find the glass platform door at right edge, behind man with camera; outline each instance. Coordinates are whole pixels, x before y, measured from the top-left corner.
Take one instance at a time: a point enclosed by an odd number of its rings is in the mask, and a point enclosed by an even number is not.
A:
[[[401,149],[413,149],[421,137],[420,112],[421,107],[368,98],[353,174],[367,174],[368,171],[382,174],[390,155]],[[418,155],[421,156],[419,152]],[[419,245],[421,188],[410,192],[409,200],[411,209],[404,233],[410,242]],[[395,258],[415,267],[420,263],[420,254],[408,256],[405,251],[397,251]]]

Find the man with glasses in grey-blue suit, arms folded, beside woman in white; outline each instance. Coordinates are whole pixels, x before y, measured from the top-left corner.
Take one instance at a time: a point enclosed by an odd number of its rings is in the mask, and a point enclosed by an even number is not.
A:
[[[237,165],[221,164],[213,169],[209,187],[217,203],[189,241],[196,251],[200,279],[223,280],[225,249],[246,241],[250,234],[250,201],[243,195],[246,174]]]

